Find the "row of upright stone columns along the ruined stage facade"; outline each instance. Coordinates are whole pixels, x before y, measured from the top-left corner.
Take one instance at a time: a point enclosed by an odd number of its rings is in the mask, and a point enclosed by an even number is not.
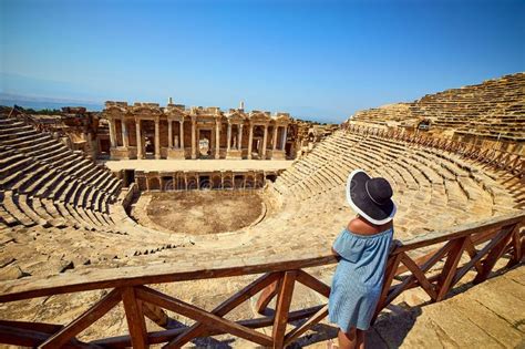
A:
[[[158,119],[154,120],[155,122],[155,158],[161,158],[161,121]],[[192,117],[192,158],[197,158],[197,144],[196,144],[196,117]],[[178,147],[184,150],[184,120],[178,121],[179,124],[179,144]],[[122,144],[124,147],[128,147],[128,133],[127,133],[127,124],[125,120],[121,120],[121,129],[122,129]],[[231,150],[231,123],[228,123],[228,131],[227,131],[227,145],[226,150],[229,152]],[[237,150],[241,150],[243,146],[243,124],[237,123]],[[249,125],[249,135],[248,135],[248,158],[251,158],[251,151],[253,151],[253,143],[254,143],[254,127],[261,125],[261,124],[250,124]],[[265,127],[264,136],[262,136],[262,158],[266,158],[266,147],[268,142],[268,124],[262,124]],[[142,158],[144,156],[144,148],[142,146],[142,136],[141,136],[141,120],[135,120],[135,127],[136,127],[136,155],[137,158]],[[222,123],[215,123],[215,157],[219,158],[220,156],[220,127]],[[281,151],[285,150],[286,137],[287,137],[287,127],[285,125],[274,126],[274,136],[272,136],[272,151],[277,148],[277,133],[278,129],[284,127],[282,138],[281,138]],[[167,135],[168,135],[168,147],[173,148],[173,120],[167,121]],[[111,147],[116,147],[116,127],[115,127],[115,120],[110,120],[110,143]]]

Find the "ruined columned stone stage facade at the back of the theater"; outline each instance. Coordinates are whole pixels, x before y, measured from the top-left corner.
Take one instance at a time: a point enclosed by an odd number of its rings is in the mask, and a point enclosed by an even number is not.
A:
[[[288,113],[157,103],[106,102],[112,160],[295,158],[297,126]],[[103,140],[103,137],[101,137]]]

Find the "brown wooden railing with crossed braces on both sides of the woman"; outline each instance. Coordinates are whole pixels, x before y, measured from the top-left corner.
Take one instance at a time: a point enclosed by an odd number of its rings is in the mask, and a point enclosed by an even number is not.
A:
[[[429,233],[398,245],[389,255],[375,316],[408,289],[421,287],[432,301],[440,301],[470,270],[475,273],[473,283],[477,284],[488,277],[501,258],[508,258],[508,267],[522,263],[525,237],[521,234],[521,227],[524,222],[525,213],[519,212],[454,227],[447,232]],[[298,252],[298,256],[254,257],[247,261],[174,261],[172,265],[97,269],[44,279],[22,278],[6,281],[0,284],[0,302],[95,289],[110,291],[66,325],[1,320],[0,342],[41,348],[75,348],[85,345],[102,348],[124,348],[133,345],[134,348],[145,348],[154,343],[177,348],[197,337],[230,333],[265,347],[282,348],[328,314],[326,304],[290,311],[297,283],[325,297],[329,296],[330,287],[305,270],[309,267],[336,264],[336,257],[328,250],[329,246],[327,252]],[[202,309],[151,286],[258,274],[262,275],[213,310]],[[259,292],[257,309],[260,312],[277,297],[272,316],[240,321],[225,318],[233,309]],[[89,343],[75,338],[121,301],[130,335]],[[148,331],[145,317],[163,326],[168,322],[167,316],[161,309],[174,311],[195,322],[184,328]],[[289,329],[288,324],[299,319],[306,321]],[[269,326],[272,327],[271,336],[256,330]]]

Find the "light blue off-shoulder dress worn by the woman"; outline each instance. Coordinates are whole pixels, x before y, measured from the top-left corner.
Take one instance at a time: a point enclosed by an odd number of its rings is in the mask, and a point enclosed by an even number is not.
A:
[[[341,256],[328,299],[330,322],[367,330],[379,301],[393,228],[357,235],[344,228],[333,243]]]

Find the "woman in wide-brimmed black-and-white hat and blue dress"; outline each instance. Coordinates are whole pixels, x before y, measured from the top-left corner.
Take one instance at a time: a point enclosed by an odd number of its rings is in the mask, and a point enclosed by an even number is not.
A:
[[[364,348],[392,243],[391,197],[392,187],[384,178],[371,178],[362,170],[348,176],[347,201],[358,215],[333,243],[340,260],[328,300],[330,322],[339,326],[340,348]]]

